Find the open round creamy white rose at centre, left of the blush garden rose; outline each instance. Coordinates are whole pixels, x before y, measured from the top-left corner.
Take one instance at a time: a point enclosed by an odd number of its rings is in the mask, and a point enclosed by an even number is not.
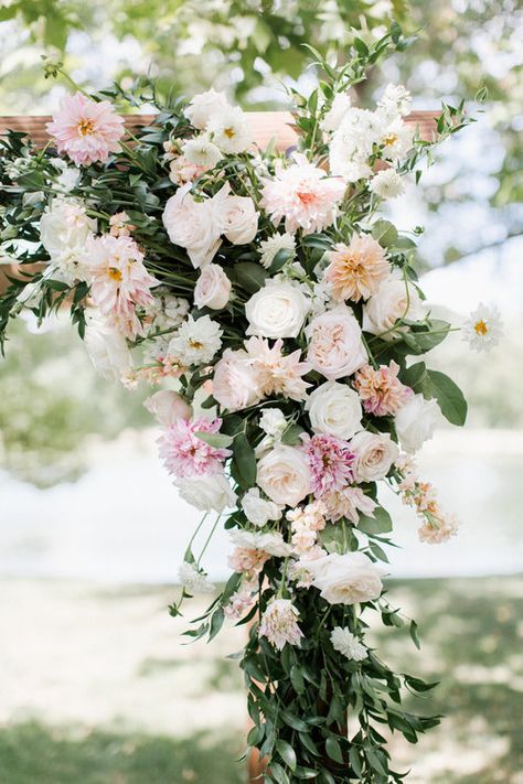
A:
[[[268,280],[245,304],[247,335],[297,337],[309,308],[299,283]]]

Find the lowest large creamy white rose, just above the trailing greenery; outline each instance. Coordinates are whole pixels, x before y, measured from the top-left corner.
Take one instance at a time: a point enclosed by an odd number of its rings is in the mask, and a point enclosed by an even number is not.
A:
[[[381,578],[386,572],[363,552],[337,552],[307,565],[314,588],[330,604],[356,604],[377,599],[383,590]]]

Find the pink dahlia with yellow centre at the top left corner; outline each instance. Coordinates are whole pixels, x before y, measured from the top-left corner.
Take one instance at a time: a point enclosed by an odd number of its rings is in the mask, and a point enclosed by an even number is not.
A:
[[[108,100],[92,100],[82,93],[65,97],[47,132],[56,142],[58,152],[66,152],[76,165],[100,161],[109,152],[117,152],[124,136],[124,119],[118,117]]]

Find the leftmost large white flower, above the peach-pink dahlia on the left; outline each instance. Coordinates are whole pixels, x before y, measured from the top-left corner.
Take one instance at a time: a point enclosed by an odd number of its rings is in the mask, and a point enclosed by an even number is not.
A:
[[[51,258],[84,247],[94,232],[96,221],[78,198],[54,198],[40,218],[40,239]]]

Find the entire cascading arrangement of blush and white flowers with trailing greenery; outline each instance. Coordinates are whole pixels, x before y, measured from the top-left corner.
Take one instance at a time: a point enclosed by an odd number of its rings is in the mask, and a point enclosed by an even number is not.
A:
[[[427,141],[405,121],[405,88],[373,109],[351,97],[404,43],[395,29],[356,39],[342,67],[318,61],[317,88],[290,90],[297,148],[285,152],[258,149],[222,93],[162,104],[145,80],[78,88],[44,149],[1,141],[2,249],[21,265],[0,301],[2,342],[23,311],[66,308],[104,375],[156,387],[160,458],[204,513],[171,613],[215,590],[203,556],[223,522],[232,574],[186,633],[249,624],[248,749],[278,784],[399,782],[380,724],[415,742],[438,722],[402,709],[405,688],[434,684],[392,672],[366,638],[373,614],[406,623],[383,583],[393,526],[378,486],[415,509],[423,541],[453,536],[413,454],[441,415],[462,425],[467,411],[420,358],[455,329],[419,288],[420,229],[380,217],[467,123],[463,107],[444,105]],[[158,114],[132,135],[117,109],[140,104]],[[498,314],[480,307],[461,329],[488,347]],[[410,634],[417,645],[414,621]]]

